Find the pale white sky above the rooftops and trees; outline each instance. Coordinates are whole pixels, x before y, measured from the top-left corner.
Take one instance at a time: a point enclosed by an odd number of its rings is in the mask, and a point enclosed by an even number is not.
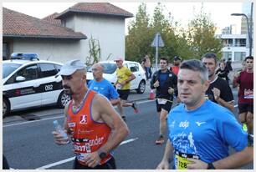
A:
[[[52,13],[61,13],[65,9],[73,6],[75,3],[3,3],[3,7],[13,9],[14,11],[25,13],[36,18],[44,18]],[[140,3],[112,3],[119,8],[136,15]],[[175,21],[187,26],[187,23],[193,18],[193,11],[200,12],[202,3],[162,3],[166,6],[166,13],[172,13]],[[157,3],[146,3],[148,13],[152,16]],[[222,28],[235,25],[234,32],[240,33],[240,17],[233,17],[231,13],[242,13],[242,3],[203,3],[204,12],[211,14],[213,23],[218,27],[218,33]],[[133,18],[126,19],[129,23]],[[126,30],[127,32],[127,30]]]

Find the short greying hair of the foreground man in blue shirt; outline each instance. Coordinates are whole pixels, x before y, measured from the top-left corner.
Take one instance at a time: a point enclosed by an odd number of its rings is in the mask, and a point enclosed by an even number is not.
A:
[[[189,69],[192,71],[199,72],[203,83],[208,80],[208,69],[200,60],[186,60],[182,62],[180,69]]]

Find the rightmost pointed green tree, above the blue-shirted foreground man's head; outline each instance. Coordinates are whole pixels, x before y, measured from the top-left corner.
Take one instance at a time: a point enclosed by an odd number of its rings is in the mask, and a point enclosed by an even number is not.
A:
[[[199,14],[188,23],[187,41],[192,47],[192,58],[200,59],[204,53],[216,53],[221,57],[223,45],[219,38],[215,37],[216,27],[212,23],[210,15],[203,12],[203,6]]]

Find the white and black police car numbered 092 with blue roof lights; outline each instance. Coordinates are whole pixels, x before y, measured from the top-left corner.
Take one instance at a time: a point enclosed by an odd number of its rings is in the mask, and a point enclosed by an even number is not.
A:
[[[36,53],[13,53],[10,60],[3,61],[3,117],[46,104],[64,108],[70,96],[64,94],[61,76],[55,77],[61,66],[39,60]]]

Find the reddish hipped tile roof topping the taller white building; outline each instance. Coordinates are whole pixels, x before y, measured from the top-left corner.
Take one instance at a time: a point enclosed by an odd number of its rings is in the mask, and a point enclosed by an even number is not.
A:
[[[109,15],[119,18],[132,18],[133,14],[118,8],[110,3],[77,3],[73,7],[66,9],[60,13],[58,19],[72,13],[86,13],[94,15]]]

